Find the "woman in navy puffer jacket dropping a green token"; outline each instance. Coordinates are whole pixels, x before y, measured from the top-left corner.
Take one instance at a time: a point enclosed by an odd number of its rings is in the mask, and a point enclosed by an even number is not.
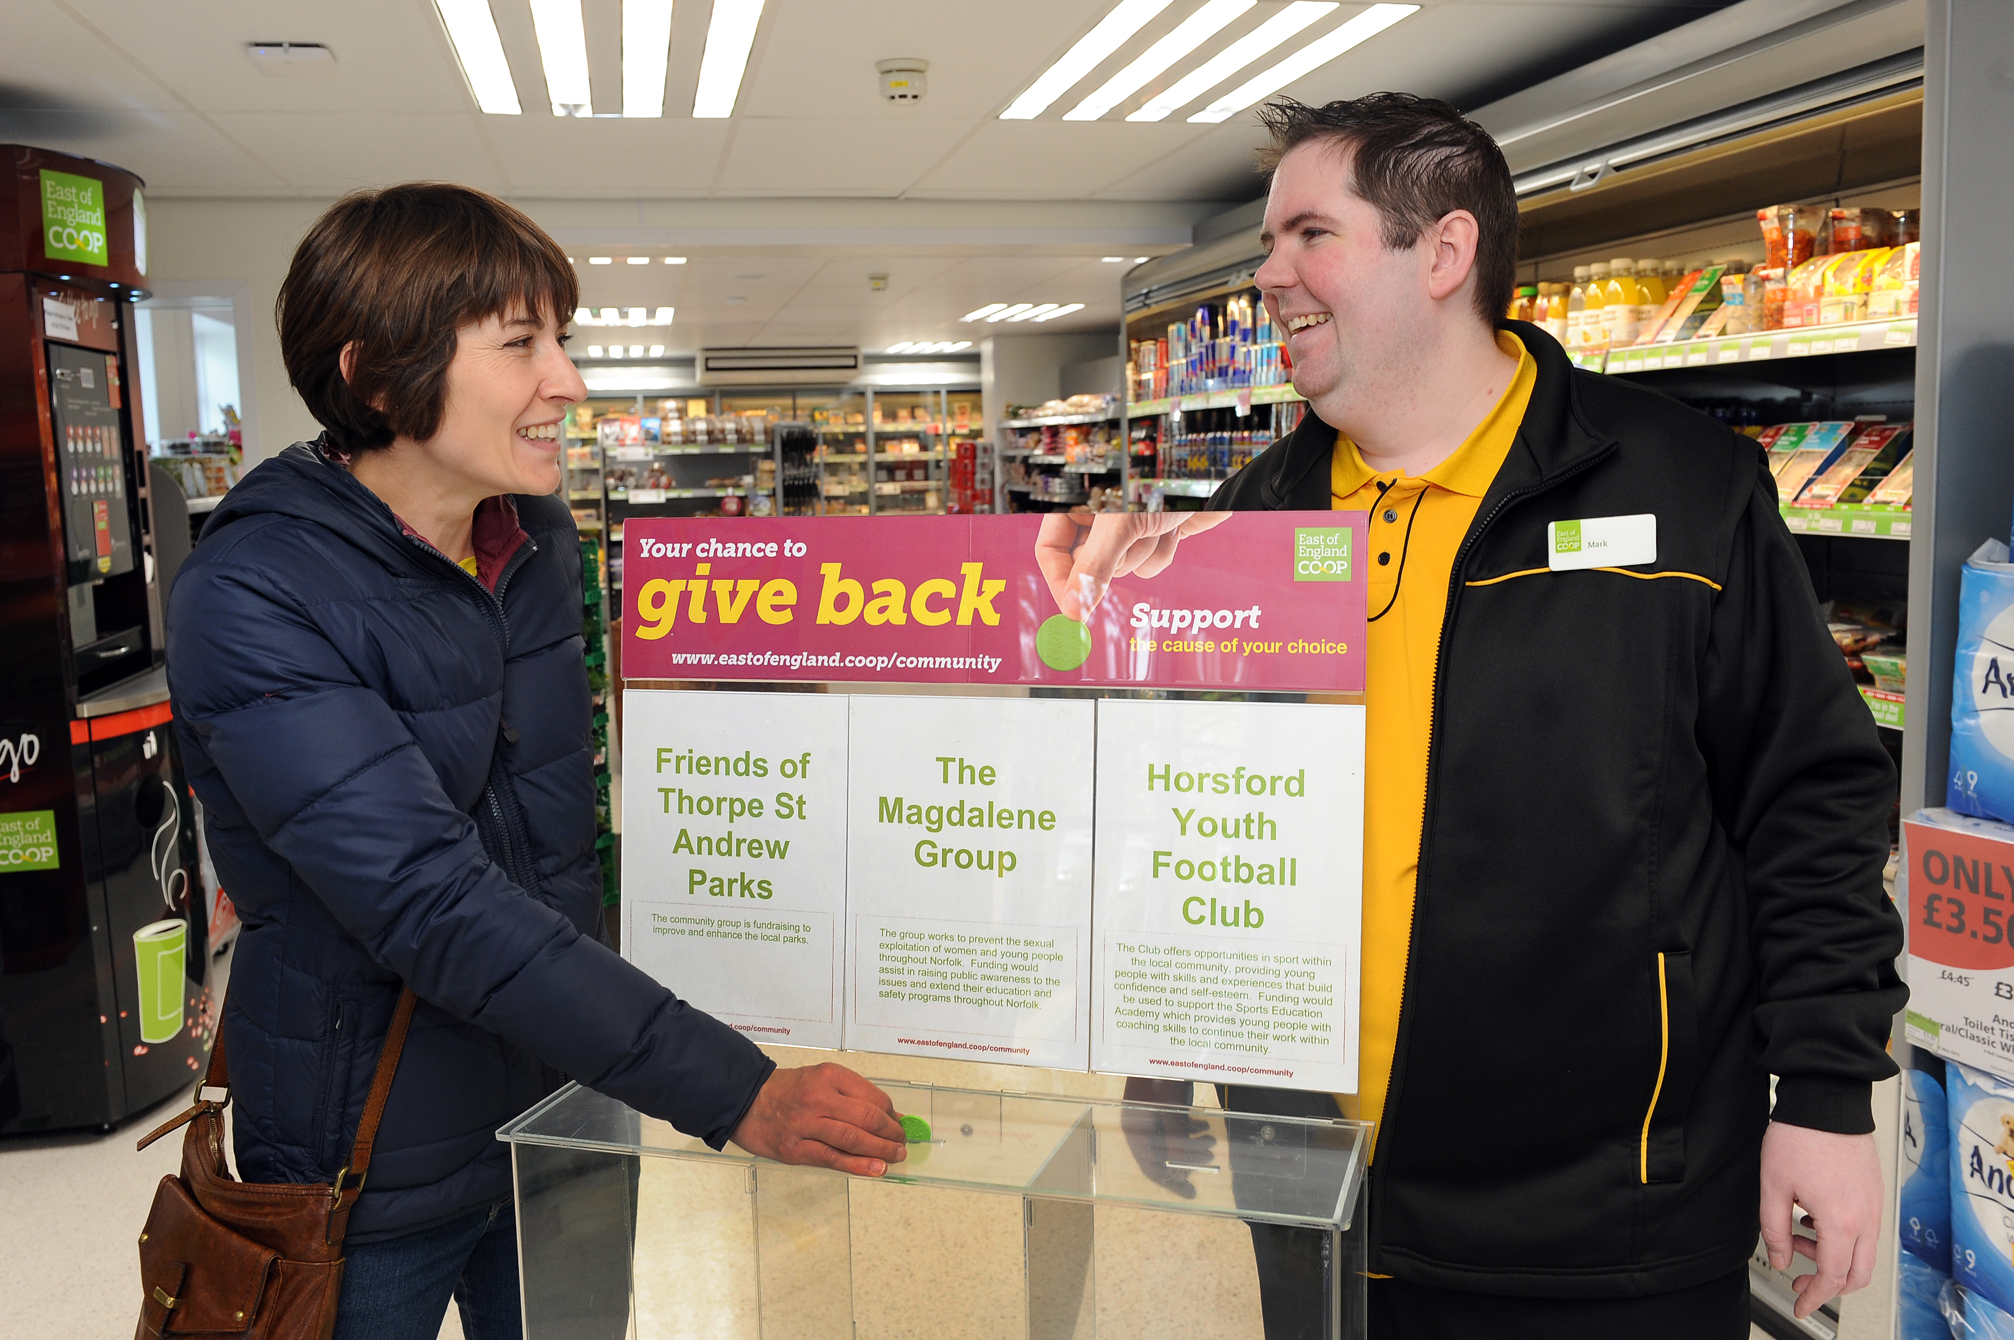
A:
[[[352,195],[282,290],[328,429],[203,528],[167,673],[244,917],[224,1038],[240,1177],[334,1181],[401,983],[419,995],[350,1215],[338,1340],[518,1334],[495,1128],[576,1078],[721,1147],[880,1175],[888,1100],[777,1072],[602,941],[582,570],[554,490],[586,387],[576,278],[479,191]]]

